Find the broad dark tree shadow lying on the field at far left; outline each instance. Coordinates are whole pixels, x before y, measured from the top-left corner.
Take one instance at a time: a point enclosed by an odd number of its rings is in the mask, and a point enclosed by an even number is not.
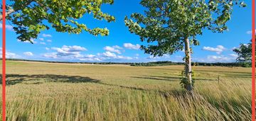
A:
[[[1,79],[1,77],[0,77]],[[60,82],[60,83],[97,83],[100,80],[91,79],[83,76],[68,76],[55,74],[35,74],[35,75],[21,75],[21,74],[6,74],[6,85],[15,85],[16,83],[26,84],[41,84],[45,82]]]

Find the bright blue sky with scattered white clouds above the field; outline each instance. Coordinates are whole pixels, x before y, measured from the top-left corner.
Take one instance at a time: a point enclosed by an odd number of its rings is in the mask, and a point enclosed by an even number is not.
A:
[[[200,45],[193,46],[193,62],[235,62],[237,55],[232,51],[233,48],[251,39],[251,2],[245,2],[246,8],[234,8],[228,22],[228,31],[211,33],[204,30],[203,35],[198,36]],[[138,0],[115,0],[113,5],[103,5],[102,11],[115,16],[116,21],[107,23],[84,16],[79,22],[85,23],[89,28],[108,28],[110,35],[107,37],[96,37],[86,32],[80,35],[57,33],[50,29],[43,31],[38,39],[33,40],[35,44],[31,44],[18,42],[11,24],[7,22],[6,57],[69,62],[182,62],[183,52],[152,57],[139,50],[139,45],[143,44],[139,36],[129,33],[124,25],[124,16],[144,11]]]

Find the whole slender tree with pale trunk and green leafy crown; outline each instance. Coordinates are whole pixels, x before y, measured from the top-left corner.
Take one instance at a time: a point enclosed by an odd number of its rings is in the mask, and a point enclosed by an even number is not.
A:
[[[245,7],[239,0],[142,0],[140,4],[146,7],[144,15],[132,13],[132,19],[126,16],[125,25],[142,42],[148,42],[141,47],[147,54],[163,56],[185,48],[186,77],[181,84],[187,91],[193,90],[190,45],[199,45],[196,36],[202,35],[203,29],[223,33],[228,30],[226,23],[233,6]]]

